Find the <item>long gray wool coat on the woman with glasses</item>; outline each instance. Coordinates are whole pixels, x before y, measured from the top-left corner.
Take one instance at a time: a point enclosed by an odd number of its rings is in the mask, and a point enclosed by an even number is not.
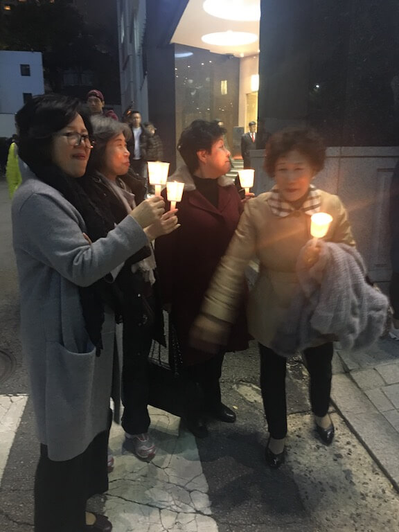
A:
[[[50,459],[69,460],[108,427],[114,353],[112,312],[106,312],[97,357],[78,287],[111,272],[148,238],[127,215],[89,245],[80,213],[29,169],[12,202],[12,231],[37,434]]]

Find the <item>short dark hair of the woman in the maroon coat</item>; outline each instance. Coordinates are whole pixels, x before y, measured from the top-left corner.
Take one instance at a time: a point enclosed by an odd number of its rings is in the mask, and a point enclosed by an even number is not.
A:
[[[199,167],[197,152],[206,150],[211,153],[212,145],[226,134],[224,127],[218,123],[195,120],[181,133],[177,150],[191,173]]]

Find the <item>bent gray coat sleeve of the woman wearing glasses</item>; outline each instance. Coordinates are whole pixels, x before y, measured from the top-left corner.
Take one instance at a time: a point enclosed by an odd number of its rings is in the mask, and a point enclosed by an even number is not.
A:
[[[148,244],[127,215],[105,238],[89,244],[84,223],[62,196],[33,193],[13,212],[14,245],[78,286],[98,281]]]

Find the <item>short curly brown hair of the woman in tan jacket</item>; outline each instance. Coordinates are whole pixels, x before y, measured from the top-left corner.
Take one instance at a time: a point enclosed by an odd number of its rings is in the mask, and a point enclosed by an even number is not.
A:
[[[326,159],[326,145],[319,133],[308,127],[286,127],[274,133],[266,144],[265,170],[270,177],[274,177],[277,160],[292,150],[301,152],[314,172],[322,170]]]

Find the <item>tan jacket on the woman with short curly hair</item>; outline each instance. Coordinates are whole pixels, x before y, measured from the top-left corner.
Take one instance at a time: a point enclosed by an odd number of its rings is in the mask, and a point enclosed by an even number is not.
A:
[[[332,215],[324,240],[355,245],[339,197],[323,190],[319,193],[320,211]],[[258,258],[259,272],[249,294],[248,326],[250,334],[268,347],[285,319],[298,283],[295,266],[299,251],[311,238],[310,215],[299,210],[280,218],[272,213],[267,202],[269,197],[267,192],[245,205],[202,306],[204,314],[233,323],[245,269],[251,258]]]

